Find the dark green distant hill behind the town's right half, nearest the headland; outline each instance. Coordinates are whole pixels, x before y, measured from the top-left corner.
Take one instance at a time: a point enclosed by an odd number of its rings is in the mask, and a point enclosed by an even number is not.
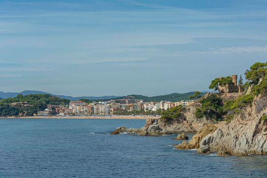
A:
[[[160,101],[171,101],[171,102],[177,102],[177,101],[182,101],[182,100],[190,100],[189,96],[194,95],[195,92],[189,92],[185,94],[179,94],[179,93],[172,93],[169,95],[160,95],[160,96],[155,96],[155,97],[146,97],[143,95],[128,95],[126,97],[120,97],[117,99],[135,99],[135,100],[144,100],[147,102],[155,101],[155,102],[160,102]],[[206,92],[202,92],[201,96],[203,96]]]

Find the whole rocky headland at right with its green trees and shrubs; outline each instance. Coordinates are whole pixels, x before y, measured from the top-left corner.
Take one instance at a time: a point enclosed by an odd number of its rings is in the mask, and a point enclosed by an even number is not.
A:
[[[196,132],[189,141],[184,134],[177,136],[185,141],[175,145],[176,149],[198,149],[198,153],[216,152],[218,156],[267,155],[267,62],[255,63],[245,75],[248,81],[244,85],[243,80],[237,85],[236,75],[216,78],[210,88],[219,94],[208,93],[188,107],[177,106],[164,111],[161,118],[147,118],[140,129],[120,127],[113,133],[156,136]],[[228,86],[236,90],[227,93]]]

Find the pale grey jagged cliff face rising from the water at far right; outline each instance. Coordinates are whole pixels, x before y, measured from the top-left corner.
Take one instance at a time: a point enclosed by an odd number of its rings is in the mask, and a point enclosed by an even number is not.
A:
[[[235,114],[228,125],[205,136],[199,152],[204,153],[204,147],[209,147],[219,156],[267,155],[267,121],[261,120],[264,114],[267,114],[267,99],[255,97],[252,106]]]

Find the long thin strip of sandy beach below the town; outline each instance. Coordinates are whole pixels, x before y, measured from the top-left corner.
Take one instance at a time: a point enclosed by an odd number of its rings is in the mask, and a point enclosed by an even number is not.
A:
[[[23,117],[0,117],[0,118],[99,118],[99,119],[146,119],[159,118],[154,115],[113,115],[113,116],[23,116]]]

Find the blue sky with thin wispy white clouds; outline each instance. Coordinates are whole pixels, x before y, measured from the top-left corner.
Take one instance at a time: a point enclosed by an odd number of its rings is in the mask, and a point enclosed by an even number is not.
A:
[[[267,61],[266,0],[0,0],[0,91],[208,91]]]

